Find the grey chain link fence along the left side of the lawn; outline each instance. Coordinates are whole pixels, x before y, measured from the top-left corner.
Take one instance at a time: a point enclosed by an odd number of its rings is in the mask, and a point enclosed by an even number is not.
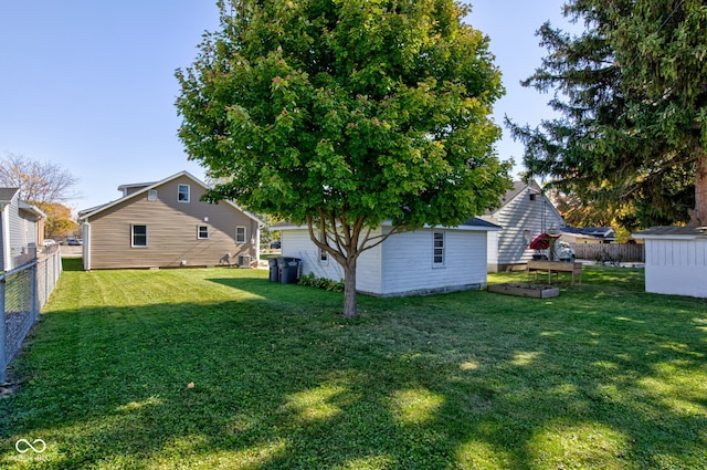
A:
[[[54,247],[30,263],[0,274],[0,384],[6,382],[8,365],[39,320],[61,272],[61,251]]]

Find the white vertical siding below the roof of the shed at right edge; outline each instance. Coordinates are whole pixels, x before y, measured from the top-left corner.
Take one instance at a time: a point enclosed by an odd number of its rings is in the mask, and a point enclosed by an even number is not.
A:
[[[707,297],[707,240],[645,240],[645,290]]]

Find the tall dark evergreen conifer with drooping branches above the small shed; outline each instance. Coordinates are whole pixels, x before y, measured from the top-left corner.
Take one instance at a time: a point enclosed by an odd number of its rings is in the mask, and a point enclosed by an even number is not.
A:
[[[701,0],[571,0],[570,35],[545,24],[548,55],[524,84],[555,90],[561,115],[511,124],[531,175],[627,224],[707,224],[707,8]]]

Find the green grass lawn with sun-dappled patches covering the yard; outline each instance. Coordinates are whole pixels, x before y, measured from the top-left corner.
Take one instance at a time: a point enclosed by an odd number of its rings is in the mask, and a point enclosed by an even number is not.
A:
[[[0,399],[0,468],[707,468],[707,302],[641,270],[341,303],[267,271],[66,271]]]

